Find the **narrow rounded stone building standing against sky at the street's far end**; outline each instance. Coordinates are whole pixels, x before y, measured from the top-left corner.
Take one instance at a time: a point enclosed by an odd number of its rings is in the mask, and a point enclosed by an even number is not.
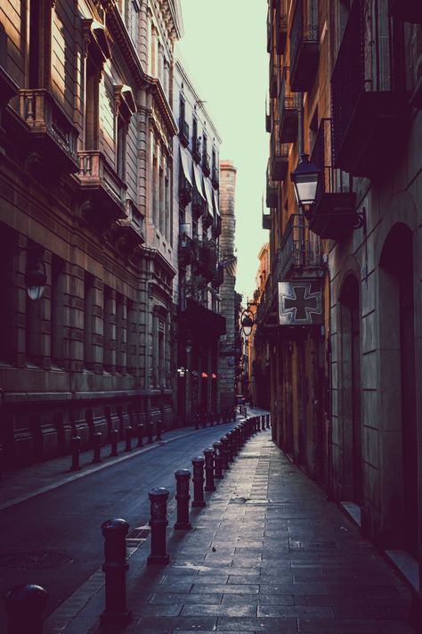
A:
[[[218,372],[220,375],[220,407],[235,407],[236,386],[236,323],[239,316],[235,306],[236,264],[235,255],[235,191],[236,168],[232,161],[220,161],[220,211],[222,235],[220,252],[223,260],[223,284],[220,288],[221,313],[225,317],[225,335],[220,344]]]

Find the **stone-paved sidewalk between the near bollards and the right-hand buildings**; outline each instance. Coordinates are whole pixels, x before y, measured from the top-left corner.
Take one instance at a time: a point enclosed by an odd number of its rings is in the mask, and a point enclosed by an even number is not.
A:
[[[169,515],[170,564],[145,565],[150,539],[130,557],[127,634],[413,631],[409,589],[269,431],[216,486],[191,512],[191,531],[174,531]],[[116,631],[99,629],[103,595],[87,596],[64,630],[53,613],[45,633]]]

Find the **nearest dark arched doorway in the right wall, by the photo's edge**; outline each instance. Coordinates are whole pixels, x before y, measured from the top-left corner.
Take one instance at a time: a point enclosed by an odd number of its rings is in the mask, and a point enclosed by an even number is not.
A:
[[[399,223],[387,235],[380,258],[380,298],[382,342],[395,352],[393,363],[382,367],[382,372],[391,375],[394,392],[399,402],[396,415],[400,419],[401,442],[396,442],[394,459],[397,475],[402,473],[401,490],[385,491],[391,498],[399,493],[401,506],[394,515],[386,518],[387,540],[392,547],[408,550],[416,556],[418,547],[418,439],[417,399],[415,371],[415,315],[414,315],[414,271],[412,233],[408,226]],[[390,453],[386,448],[385,453]],[[384,470],[392,465],[384,465]],[[397,476],[396,476],[397,477]],[[387,544],[388,545],[388,544]]]

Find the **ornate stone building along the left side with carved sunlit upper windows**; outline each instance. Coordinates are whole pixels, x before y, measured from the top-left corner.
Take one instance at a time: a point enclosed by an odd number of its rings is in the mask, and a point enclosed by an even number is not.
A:
[[[0,442],[10,465],[65,453],[75,434],[85,448],[93,432],[106,442],[113,428],[172,422],[181,28],[173,0],[0,7]],[[36,282],[45,292],[33,301]]]

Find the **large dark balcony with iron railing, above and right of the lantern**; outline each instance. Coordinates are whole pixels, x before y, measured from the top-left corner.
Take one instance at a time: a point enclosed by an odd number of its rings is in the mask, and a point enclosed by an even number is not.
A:
[[[390,72],[394,55],[388,27],[373,24],[367,35],[367,17],[364,0],[355,0],[331,78],[331,111],[334,166],[374,178],[388,169],[393,148],[397,152],[406,136],[410,94],[402,85],[405,73],[393,78]]]

